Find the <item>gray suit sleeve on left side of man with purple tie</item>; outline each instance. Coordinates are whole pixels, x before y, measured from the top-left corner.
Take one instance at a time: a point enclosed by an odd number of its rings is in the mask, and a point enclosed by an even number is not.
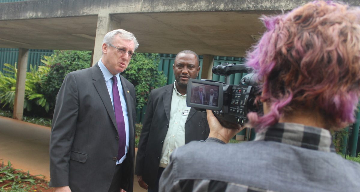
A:
[[[66,75],[57,95],[50,136],[50,186],[69,185],[69,160],[78,116],[78,89],[73,73]]]

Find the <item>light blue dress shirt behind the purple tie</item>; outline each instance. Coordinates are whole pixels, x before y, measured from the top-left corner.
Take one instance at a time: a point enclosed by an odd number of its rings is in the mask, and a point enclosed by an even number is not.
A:
[[[111,72],[104,66],[104,63],[101,61],[101,59],[99,60],[98,65],[100,67],[101,72],[103,72],[106,87],[108,88],[111,103],[112,103],[112,106],[113,106],[113,109],[114,109],[114,98],[113,98],[113,95],[112,95],[112,83],[113,83],[113,81],[111,80],[111,78],[114,75],[111,74]],[[116,76],[117,82],[118,82],[117,83],[117,88],[119,89],[121,107],[122,107],[122,112],[123,112],[124,121],[125,121],[125,132],[126,132],[125,155],[122,156],[120,160],[116,161],[116,164],[120,164],[125,160],[126,153],[127,153],[127,151],[129,151],[129,138],[130,138],[130,136],[129,136],[129,117],[128,117],[128,114],[127,114],[127,106],[126,106],[126,101],[125,101],[125,95],[124,95],[124,91],[123,91],[122,86],[121,86],[120,76],[119,76],[119,74],[116,74],[115,76]]]

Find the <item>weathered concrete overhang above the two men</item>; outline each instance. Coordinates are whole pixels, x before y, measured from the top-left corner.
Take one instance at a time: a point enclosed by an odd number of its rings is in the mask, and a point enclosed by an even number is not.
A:
[[[93,50],[99,14],[131,31],[137,52],[242,57],[265,28],[261,15],[306,0],[29,0],[0,3],[0,47]],[[358,0],[350,5],[359,6]]]

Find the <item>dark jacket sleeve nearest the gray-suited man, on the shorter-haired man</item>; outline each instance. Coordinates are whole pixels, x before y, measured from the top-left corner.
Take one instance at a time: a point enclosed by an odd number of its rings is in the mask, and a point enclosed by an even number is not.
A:
[[[136,175],[143,175],[146,147],[147,147],[149,134],[150,134],[150,127],[154,115],[152,93],[153,91],[150,92],[149,101],[147,104],[145,118],[143,122],[143,128],[141,130],[140,139],[139,139],[138,153],[136,154],[136,166],[135,166]]]

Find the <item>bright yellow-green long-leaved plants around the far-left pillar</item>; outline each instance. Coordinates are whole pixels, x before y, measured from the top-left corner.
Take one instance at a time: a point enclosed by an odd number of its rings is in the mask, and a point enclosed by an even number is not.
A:
[[[14,66],[5,63],[4,71],[0,72],[0,103],[3,107],[14,108],[15,86],[17,78],[17,63]],[[30,72],[26,72],[24,108],[32,111],[34,108],[42,108],[49,111],[49,102],[41,94],[40,79],[48,73],[49,67],[39,66],[38,69],[30,65]]]

